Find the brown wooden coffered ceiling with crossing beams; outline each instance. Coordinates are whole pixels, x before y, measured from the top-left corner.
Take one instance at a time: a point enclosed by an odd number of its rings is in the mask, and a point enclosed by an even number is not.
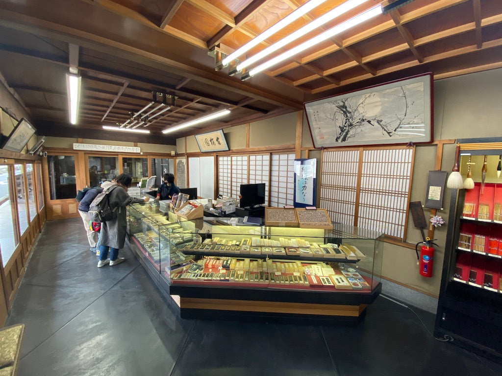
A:
[[[246,81],[241,81],[239,73],[230,76],[228,67],[215,70],[220,56],[304,3],[0,0],[0,79],[26,108],[38,133],[45,135],[88,137],[90,130],[99,129],[102,138],[123,139],[118,132],[103,131],[102,125],[127,121],[152,101],[153,92],[163,93],[168,104],[175,99],[174,105],[138,129],[151,131],[149,142],[174,144],[178,137],[298,111],[307,100],[419,73],[431,71],[435,79],[442,79],[502,67],[502,1],[415,0]],[[341,3],[324,2],[248,51],[246,57]],[[367,0],[271,56],[380,3]],[[82,77],[76,126],[68,122],[65,73],[70,66]],[[162,98],[155,97],[157,102]],[[161,133],[223,108],[231,110],[224,118]]]

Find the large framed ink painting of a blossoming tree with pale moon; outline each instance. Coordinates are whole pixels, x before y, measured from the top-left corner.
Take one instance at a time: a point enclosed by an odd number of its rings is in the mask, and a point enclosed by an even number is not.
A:
[[[303,104],[314,147],[432,141],[432,73]]]

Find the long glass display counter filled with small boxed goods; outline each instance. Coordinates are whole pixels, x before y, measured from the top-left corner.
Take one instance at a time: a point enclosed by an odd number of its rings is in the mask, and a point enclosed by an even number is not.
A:
[[[154,202],[129,207],[129,234],[152,278],[180,297],[185,318],[358,322],[382,289],[383,235],[351,226],[184,221]]]

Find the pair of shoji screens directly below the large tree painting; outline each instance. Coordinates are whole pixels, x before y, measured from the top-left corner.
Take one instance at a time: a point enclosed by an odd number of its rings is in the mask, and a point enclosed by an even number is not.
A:
[[[320,206],[333,222],[403,238],[414,148],[323,151]]]

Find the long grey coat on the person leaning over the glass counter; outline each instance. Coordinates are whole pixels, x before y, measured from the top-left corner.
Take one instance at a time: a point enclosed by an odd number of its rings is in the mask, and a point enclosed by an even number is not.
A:
[[[104,190],[107,190],[112,185],[115,184],[111,181],[105,181],[101,186]],[[101,224],[101,245],[120,249],[123,248],[126,242],[126,207],[130,204],[142,204],[145,200],[129,196],[126,190],[120,185],[113,189],[108,195],[110,208],[117,208],[115,210],[117,215],[112,220]]]

